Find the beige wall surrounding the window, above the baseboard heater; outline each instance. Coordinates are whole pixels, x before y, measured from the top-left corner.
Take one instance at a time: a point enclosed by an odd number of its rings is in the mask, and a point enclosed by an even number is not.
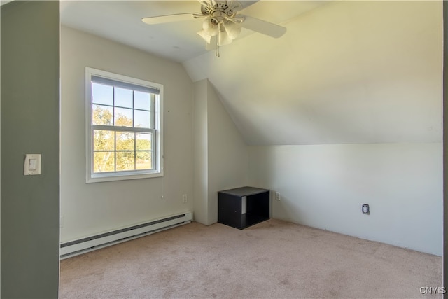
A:
[[[85,67],[164,85],[165,176],[85,183]],[[193,211],[193,83],[181,64],[62,27],[61,92],[61,242]]]

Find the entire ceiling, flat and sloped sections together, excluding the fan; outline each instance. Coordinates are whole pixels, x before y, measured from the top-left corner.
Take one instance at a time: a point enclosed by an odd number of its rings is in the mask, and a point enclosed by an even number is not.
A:
[[[62,1],[63,25],[180,62],[207,78],[248,144],[441,142],[442,1],[258,1],[242,13],[287,28],[243,29],[204,50],[197,1]]]

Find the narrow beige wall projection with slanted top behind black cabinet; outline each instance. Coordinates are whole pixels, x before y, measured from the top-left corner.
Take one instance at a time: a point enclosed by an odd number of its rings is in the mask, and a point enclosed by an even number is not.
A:
[[[248,148],[213,85],[195,83],[195,220],[218,221],[218,191],[246,186]]]

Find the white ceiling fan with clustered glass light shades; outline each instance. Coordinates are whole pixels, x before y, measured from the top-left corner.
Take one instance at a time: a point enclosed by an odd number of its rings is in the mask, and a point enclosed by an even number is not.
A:
[[[234,0],[199,0],[201,4],[200,13],[177,13],[174,15],[158,15],[142,18],[148,25],[162,24],[167,22],[179,22],[192,20],[192,18],[204,18],[202,30],[197,32],[206,41],[207,50],[216,50],[219,57],[219,46],[232,43],[241,32],[241,27],[251,29],[254,32],[266,34],[279,38],[286,32],[286,28],[266,22],[248,15],[238,14],[238,11],[254,4],[256,1],[234,1]]]

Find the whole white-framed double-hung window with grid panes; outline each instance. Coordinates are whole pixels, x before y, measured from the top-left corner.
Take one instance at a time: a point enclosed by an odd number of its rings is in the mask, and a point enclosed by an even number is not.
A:
[[[163,85],[85,68],[86,182],[163,175]]]

